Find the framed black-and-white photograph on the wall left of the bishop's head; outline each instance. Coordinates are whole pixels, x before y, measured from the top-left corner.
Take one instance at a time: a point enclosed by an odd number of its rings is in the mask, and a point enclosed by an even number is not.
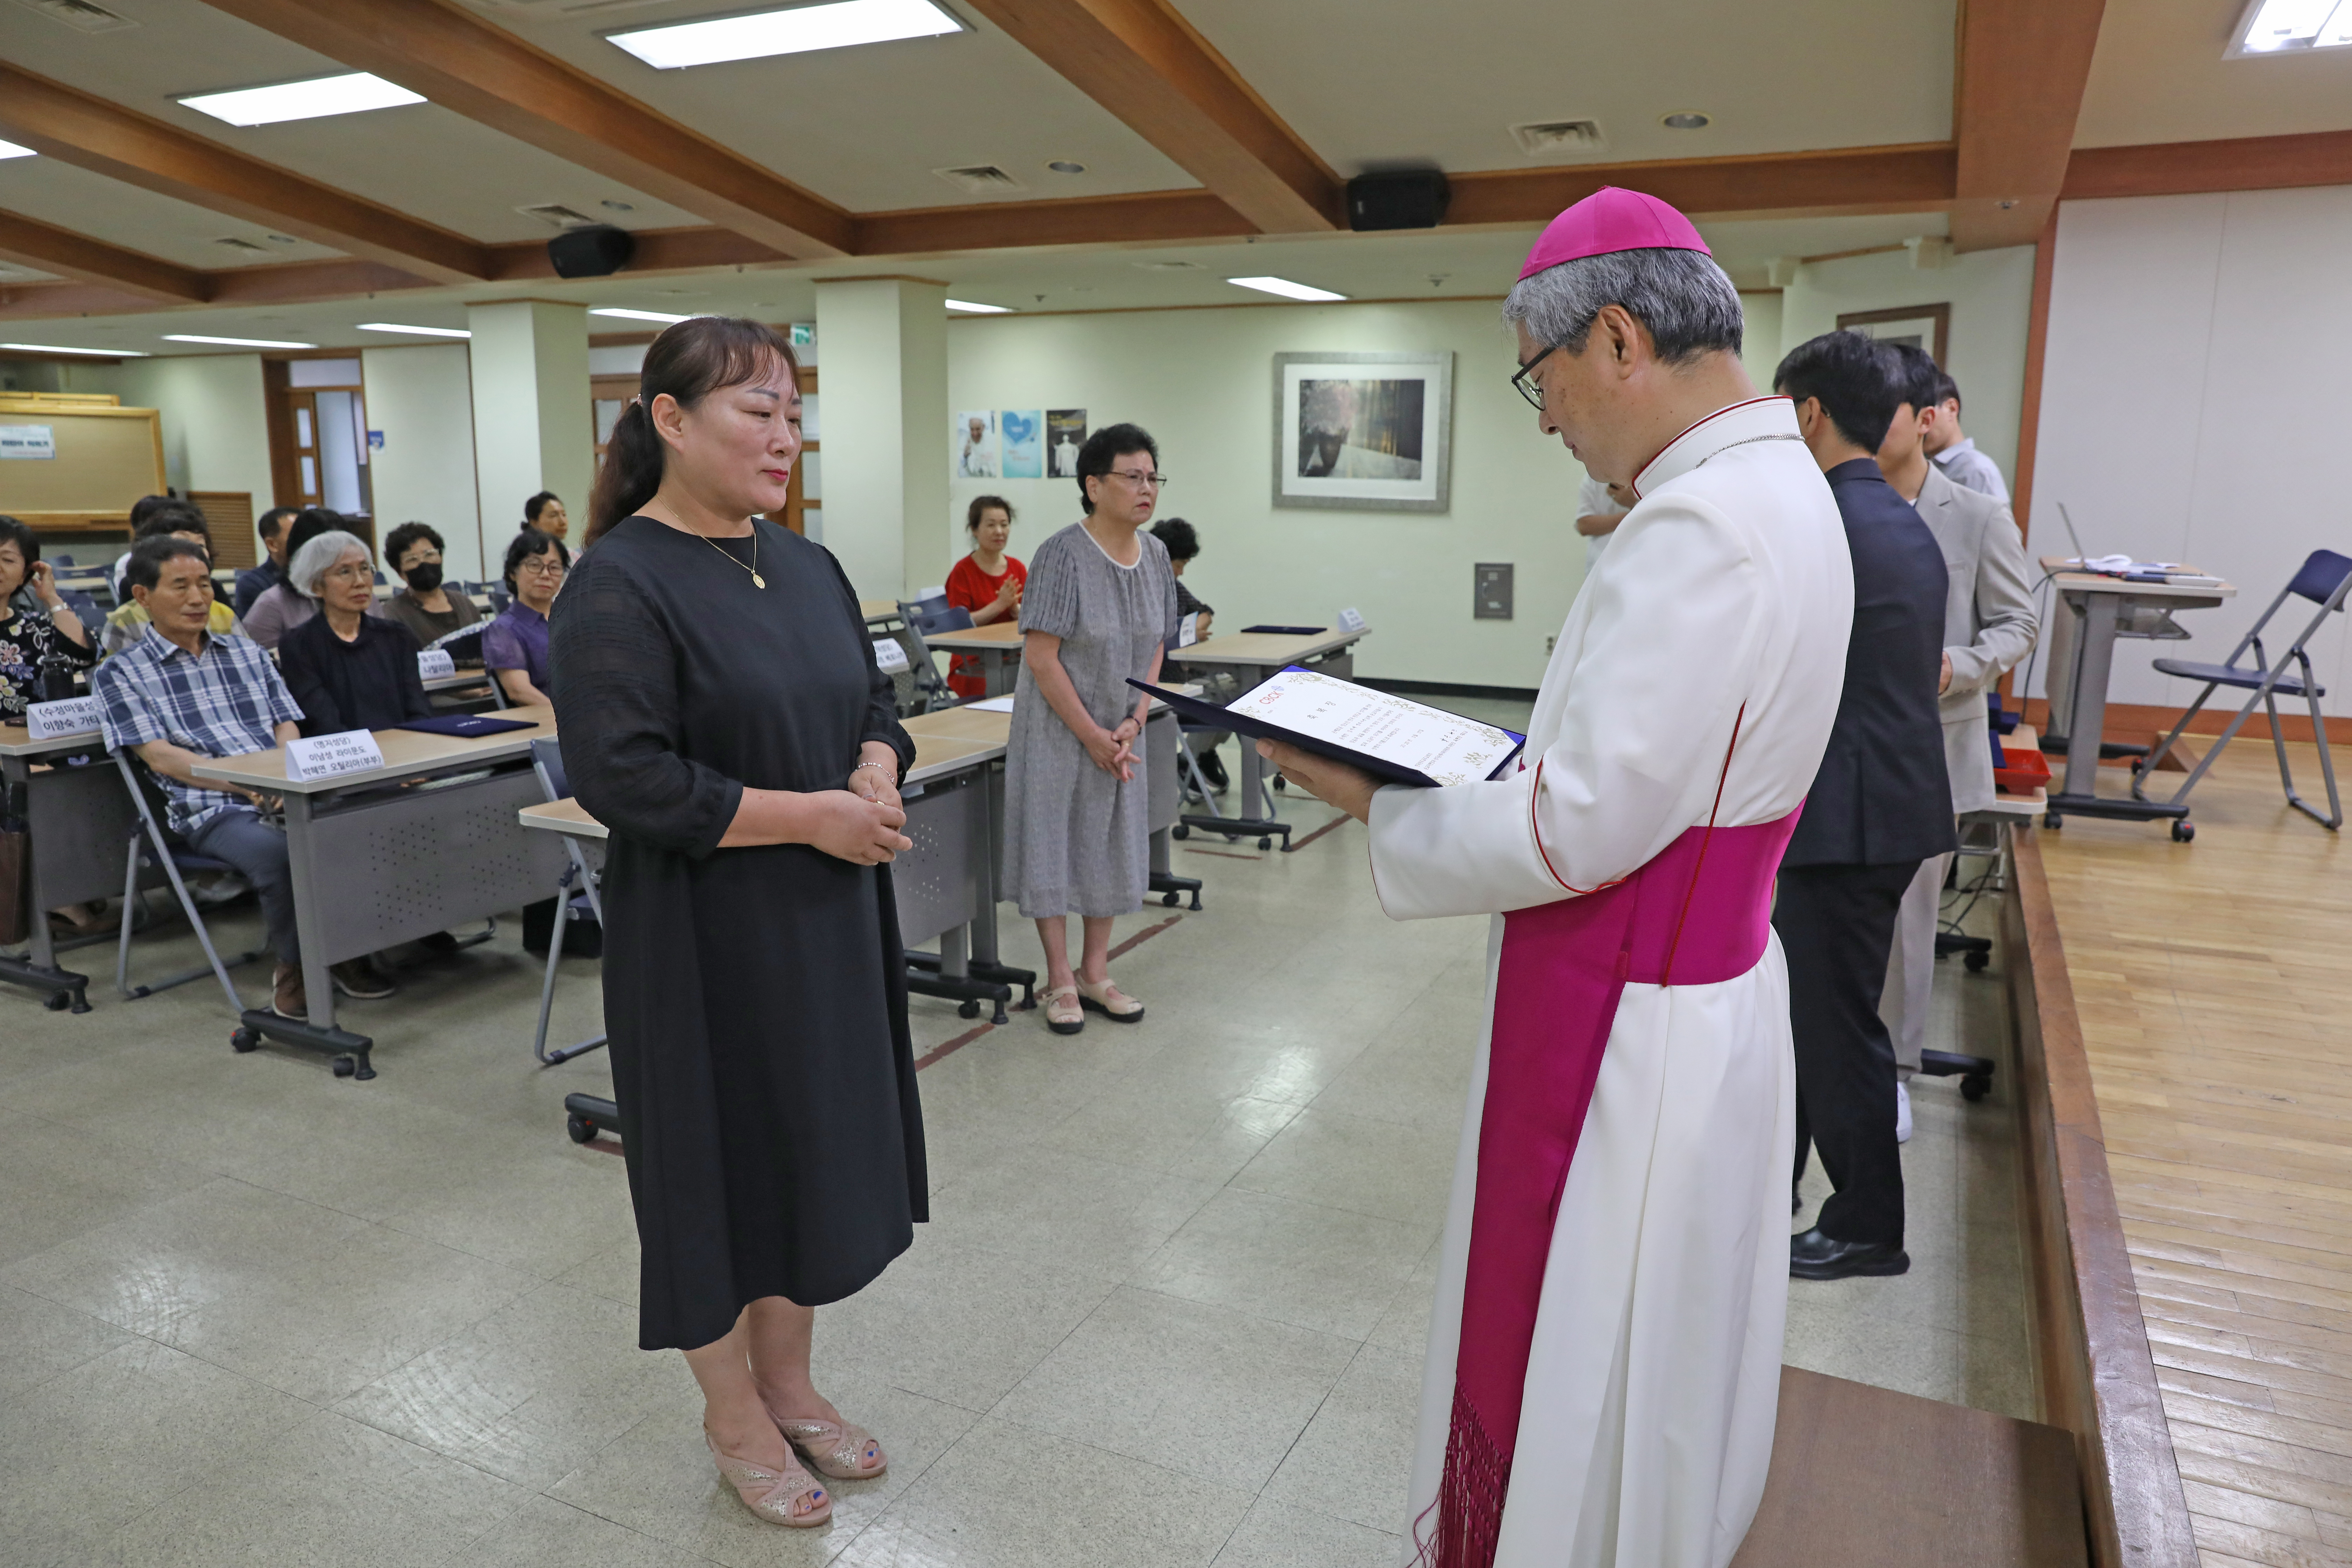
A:
[[[1275,505],[1444,512],[1454,355],[1275,355]]]

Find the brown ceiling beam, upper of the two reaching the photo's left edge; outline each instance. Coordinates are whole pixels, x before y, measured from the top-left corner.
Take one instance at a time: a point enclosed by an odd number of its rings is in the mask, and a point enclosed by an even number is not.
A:
[[[489,277],[487,252],[219,141],[0,61],[0,134],[59,162],[278,228],[430,282]]]

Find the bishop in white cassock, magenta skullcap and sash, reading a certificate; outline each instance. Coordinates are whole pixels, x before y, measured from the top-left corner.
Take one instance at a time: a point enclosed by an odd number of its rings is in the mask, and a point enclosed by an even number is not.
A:
[[[1494,914],[1406,1559],[1722,1568],[1764,1495],[1795,1065],[1771,877],[1853,618],[1846,536],[1691,223],[1602,190],[1505,303],[1538,425],[1639,501],[1585,578],[1524,769],[1374,788],[1397,919]]]

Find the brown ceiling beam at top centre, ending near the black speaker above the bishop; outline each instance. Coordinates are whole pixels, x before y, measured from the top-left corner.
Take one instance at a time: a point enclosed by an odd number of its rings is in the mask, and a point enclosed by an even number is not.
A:
[[[971,9],[1263,233],[1348,226],[1338,174],[1167,0],[971,0]]]

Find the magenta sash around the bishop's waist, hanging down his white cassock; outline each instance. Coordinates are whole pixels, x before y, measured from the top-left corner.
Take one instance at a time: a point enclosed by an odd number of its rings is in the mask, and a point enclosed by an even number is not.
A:
[[[1503,917],[1454,1425],[1437,1528],[1421,1544],[1435,1568],[1494,1563],[1552,1220],[1618,997],[1628,980],[1717,985],[1757,966],[1802,811],[1691,827],[1623,882]]]

